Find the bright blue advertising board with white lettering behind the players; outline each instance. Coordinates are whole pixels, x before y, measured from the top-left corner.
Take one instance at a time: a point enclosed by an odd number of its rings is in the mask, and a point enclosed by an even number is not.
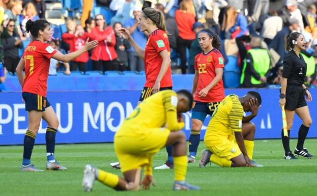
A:
[[[120,83],[120,82],[119,82]],[[67,85],[67,82],[64,82]],[[92,84],[93,85],[93,84]],[[225,94],[244,95],[247,89],[225,90]],[[278,105],[277,89],[255,90],[262,95],[262,107],[252,122],[256,125],[255,138],[280,138],[281,110]],[[311,89],[317,97],[317,89]],[[123,120],[131,114],[137,104],[140,91],[77,91],[48,92],[48,100],[60,119],[56,143],[103,143],[113,142],[114,133]],[[317,102],[308,104],[315,120]],[[191,112],[184,114],[187,138],[190,133]],[[200,138],[204,138],[210,117],[205,120]],[[291,136],[297,136],[301,125],[298,117],[294,121]],[[41,123],[36,144],[45,143],[45,122]],[[27,129],[27,113],[24,110],[21,93],[2,93],[0,96],[0,145],[23,144]],[[312,123],[308,137],[317,137],[316,123]]]

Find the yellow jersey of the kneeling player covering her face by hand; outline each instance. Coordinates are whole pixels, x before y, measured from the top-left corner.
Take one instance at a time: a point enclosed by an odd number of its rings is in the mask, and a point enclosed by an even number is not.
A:
[[[229,137],[242,131],[243,107],[237,95],[226,96],[214,111],[208,124],[205,141]]]

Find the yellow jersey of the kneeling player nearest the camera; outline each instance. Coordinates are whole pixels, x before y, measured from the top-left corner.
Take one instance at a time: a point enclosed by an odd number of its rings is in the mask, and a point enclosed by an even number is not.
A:
[[[155,93],[133,110],[132,114],[124,120],[116,136],[137,136],[147,134],[151,128],[164,127],[167,111],[173,111],[176,118],[177,102],[177,94],[172,90]]]

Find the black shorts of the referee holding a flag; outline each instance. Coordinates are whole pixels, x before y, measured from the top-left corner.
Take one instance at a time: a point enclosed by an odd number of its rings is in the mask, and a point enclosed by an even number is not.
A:
[[[296,108],[307,105],[305,100],[305,90],[302,87],[287,86],[285,95],[285,109],[294,111]]]

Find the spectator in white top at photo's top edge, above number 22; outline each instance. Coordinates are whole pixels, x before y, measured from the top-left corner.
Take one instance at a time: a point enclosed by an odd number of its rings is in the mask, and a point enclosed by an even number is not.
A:
[[[220,9],[225,8],[228,3],[225,0],[205,0],[207,14],[206,20],[208,26],[219,36],[220,35],[220,24],[219,14]]]

